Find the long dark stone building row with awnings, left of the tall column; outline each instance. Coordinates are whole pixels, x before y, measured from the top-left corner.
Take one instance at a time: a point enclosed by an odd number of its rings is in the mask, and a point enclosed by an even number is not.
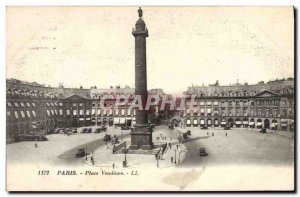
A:
[[[149,90],[149,94],[163,96],[161,89]],[[134,88],[115,87],[64,88],[46,87],[16,79],[6,80],[6,130],[7,142],[15,141],[19,135],[49,134],[56,128],[83,126],[132,126],[135,124],[135,110],[126,105],[115,107],[117,95],[134,97]],[[100,109],[100,100],[108,96]],[[150,108],[150,121],[161,111],[159,105]],[[152,114],[152,115],[151,115]],[[151,120],[151,117],[154,117]]]

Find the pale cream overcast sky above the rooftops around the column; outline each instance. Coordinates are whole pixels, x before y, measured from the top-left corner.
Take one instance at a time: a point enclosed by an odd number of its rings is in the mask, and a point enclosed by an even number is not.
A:
[[[7,9],[7,78],[134,86],[137,7]],[[143,7],[148,89],[294,76],[293,9]]]

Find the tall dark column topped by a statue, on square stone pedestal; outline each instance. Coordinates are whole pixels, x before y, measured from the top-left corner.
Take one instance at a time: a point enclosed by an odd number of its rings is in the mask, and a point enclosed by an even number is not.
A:
[[[143,103],[143,110],[136,109],[136,125],[131,131],[130,149],[153,148],[152,130],[148,123],[148,111],[145,109],[147,101],[147,64],[146,64],[146,37],[148,30],[142,19],[143,11],[138,10],[139,19],[132,31],[135,37],[135,95],[140,95]]]

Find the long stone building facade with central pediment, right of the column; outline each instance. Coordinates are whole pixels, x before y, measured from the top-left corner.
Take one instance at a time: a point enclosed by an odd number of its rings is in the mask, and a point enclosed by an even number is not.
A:
[[[292,130],[295,117],[294,79],[189,87],[186,109],[174,122],[185,127],[256,127]],[[190,108],[192,95],[194,107]]]

